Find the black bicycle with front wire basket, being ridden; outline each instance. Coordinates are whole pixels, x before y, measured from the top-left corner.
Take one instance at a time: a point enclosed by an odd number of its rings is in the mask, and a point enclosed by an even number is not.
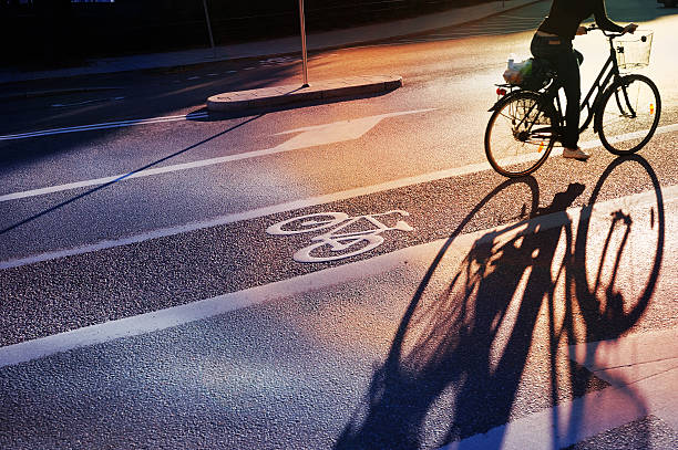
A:
[[[586,30],[599,29],[590,25]],[[618,39],[624,33],[600,31],[609,42],[609,56],[581,104],[581,111],[587,112],[579,133],[593,122],[594,132],[608,151],[634,154],[655,134],[661,98],[649,77],[620,71],[649,64],[653,34],[637,31],[636,40],[622,41]],[[558,94],[562,85],[556,73],[546,70],[536,88],[514,84],[496,86],[500,98],[489,109],[493,113],[485,129],[485,155],[499,174],[523,177],[538,169],[555,142],[561,140],[565,121]]]

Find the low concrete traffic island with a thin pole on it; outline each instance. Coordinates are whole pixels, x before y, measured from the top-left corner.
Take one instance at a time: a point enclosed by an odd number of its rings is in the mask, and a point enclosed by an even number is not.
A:
[[[284,106],[307,101],[388,92],[400,86],[402,86],[402,76],[399,75],[350,76],[315,82],[307,87],[297,84],[217,94],[207,98],[207,108],[215,112],[234,112]]]

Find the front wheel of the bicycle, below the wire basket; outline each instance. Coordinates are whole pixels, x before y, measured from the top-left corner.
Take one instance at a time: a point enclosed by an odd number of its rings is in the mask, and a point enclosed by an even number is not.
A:
[[[644,75],[626,75],[605,92],[596,112],[600,143],[615,155],[638,151],[655,134],[661,98],[655,83]]]

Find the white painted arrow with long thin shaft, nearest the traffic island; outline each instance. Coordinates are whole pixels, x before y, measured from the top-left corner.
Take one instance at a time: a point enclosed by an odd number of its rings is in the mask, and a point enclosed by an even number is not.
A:
[[[409,114],[425,113],[429,111],[433,111],[433,109],[414,109],[414,111],[405,111],[405,112],[399,112],[399,113],[388,113],[388,114],[381,114],[378,116],[361,117],[361,118],[352,119],[352,121],[341,121],[341,122],[335,122],[331,124],[292,129],[292,130],[282,132],[279,134],[282,135],[282,134],[299,133],[299,135],[273,148],[267,148],[264,150],[247,151],[247,153],[242,153],[237,155],[222,156],[217,158],[202,159],[202,160],[197,160],[193,163],[183,163],[183,164],[175,164],[171,166],[155,167],[155,168],[140,170],[135,172],[117,174],[117,175],[113,175],[110,177],[69,182],[65,185],[58,185],[58,186],[51,186],[51,187],[45,187],[45,188],[24,190],[20,192],[6,193],[3,196],[0,196],[0,202],[9,201],[9,200],[18,200],[18,199],[28,198],[28,197],[42,196],[47,193],[54,193],[54,192],[60,192],[63,190],[78,189],[78,188],[84,188],[84,187],[90,187],[90,186],[100,186],[100,185],[105,185],[106,182],[112,182],[116,180],[123,181],[123,180],[129,180],[133,178],[150,177],[153,175],[167,174],[167,172],[173,172],[173,171],[178,171],[178,170],[195,169],[198,167],[213,166],[216,164],[233,163],[233,161],[243,160],[243,159],[274,155],[274,154],[278,154],[282,151],[296,150],[296,149],[300,149],[305,147],[315,147],[319,145],[327,145],[327,144],[335,144],[335,143],[340,143],[345,140],[358,139],[359,137],[364,135],[367,132],[372,129],[377,124],[379,124],[384,118],[397,117],[397,116],[409,115]],[[198,115],[196,114],[191,117],[197,118]]]

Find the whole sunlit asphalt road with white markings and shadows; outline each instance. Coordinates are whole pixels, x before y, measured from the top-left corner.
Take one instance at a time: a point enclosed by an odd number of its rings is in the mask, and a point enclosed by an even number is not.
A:
[[[590,359],[678,333],[678,18],[608,4],[655,32],[637,156],[587,132],[589,161],[510,181],[493,83],[547,10],[311,54],[311,83],[403,76],[329,104],[205,109],[298,81],[292,57],[0,86],[62,90],[0,112],[0,447],[678,447],[653,383]],[[585,86],[604,45],[576,40]]]

